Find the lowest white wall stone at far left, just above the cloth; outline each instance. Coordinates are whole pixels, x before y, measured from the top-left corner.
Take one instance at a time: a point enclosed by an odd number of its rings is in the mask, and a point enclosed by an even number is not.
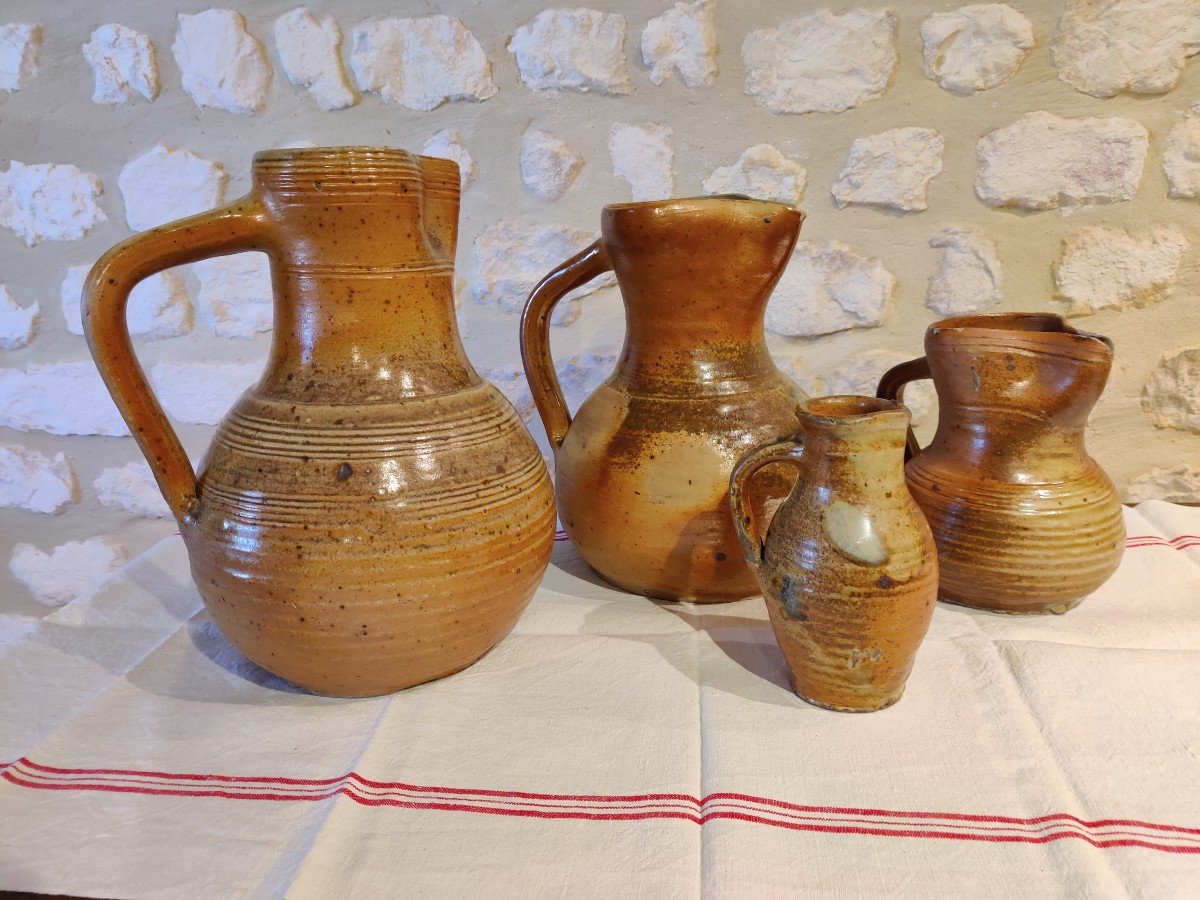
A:
[[[32,544],[13,547],[8,568],[34,599],[64,606],[90,596],[109,575],[128,562],[125,548],[104,538],[67,541],[46,553]]]

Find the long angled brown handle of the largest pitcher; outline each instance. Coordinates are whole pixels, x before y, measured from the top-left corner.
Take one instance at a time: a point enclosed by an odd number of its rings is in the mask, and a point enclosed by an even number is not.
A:
[[[130,292],[146,276],[205,257],[264,250],[265,234],[258,202],[238,200],[118,244],[92,266],[83,288],[83,332],[100,377],[180,523],[199,508],[196,473],[133,355],[125,307]]]

